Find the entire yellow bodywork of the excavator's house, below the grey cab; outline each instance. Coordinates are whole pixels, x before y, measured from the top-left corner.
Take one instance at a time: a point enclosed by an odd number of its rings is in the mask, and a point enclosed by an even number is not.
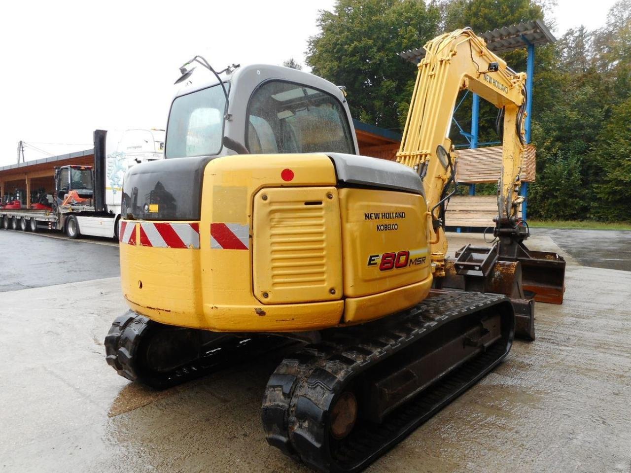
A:
[[[297,332],[384,317],[425,298],[432,276],[429,258],[422,255],[427,252],[422,197],[336,185],[333,162],[324,155],[210,161],[204,169],[201,218],[191,222],[199,225],[199,247],[143,246],[139,224],[144,221],[125,220],[136,225],[133,244],[121,244],[129,305],[163,324],[218,332]],[[405,218],[394,218],[398,230],[381,232],[374,220],[365,219],[364,213],[371,212],[405,213]],[[216,228],[232,231],[229,244]],[[297,250],[305,238],[317,244]],[[410,266],[405,256],[400,267],[379,273],[364,267],[371,255],[402,251],[425,260]],[[290,258],[279,258],[283,254]],[[287,276],[296,277],[288,283]]]

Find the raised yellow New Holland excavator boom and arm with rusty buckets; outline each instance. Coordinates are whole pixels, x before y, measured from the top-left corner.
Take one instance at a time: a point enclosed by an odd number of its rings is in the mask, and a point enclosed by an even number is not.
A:
[[[524,245],[528,225],[517,216],[524,199],[519,196],[519,175],[525,144],[526,74],[512,71],[471,28],[440,35],[425,50],[397,161],[423,178],[435,285],[509,296],[516,312],[516,335],[534,339],[533,298],[562,303],[565,261],[554,252],[529,250]],[[503,156],[493,231],[497,243],[493,247],[467,245],[456,252],[454,261],[446,257],[444,206],[456,172],[456,160],[449,153],[449,128],[457,95],[464,89],[504,114]]]

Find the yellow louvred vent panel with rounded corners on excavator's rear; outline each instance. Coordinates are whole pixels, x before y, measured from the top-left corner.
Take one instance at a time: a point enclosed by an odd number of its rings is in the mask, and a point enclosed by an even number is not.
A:
[[[338,189],[261,189],[252,219],[254,296],[264,304],[338,300]]]

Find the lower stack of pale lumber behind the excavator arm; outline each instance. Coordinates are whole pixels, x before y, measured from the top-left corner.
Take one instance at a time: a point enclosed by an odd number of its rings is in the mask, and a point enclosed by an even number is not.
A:
[[[493,218],[497,216],[496,196],[454,196],[451,197],[445,212],[446,226],[471,226],[487,228],[495,226]],[[521,206],[519,206],[521,217]]]

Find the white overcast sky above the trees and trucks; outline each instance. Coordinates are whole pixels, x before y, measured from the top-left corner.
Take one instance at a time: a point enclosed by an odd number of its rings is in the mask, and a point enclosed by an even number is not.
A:
[[[599,28],[615,0],[558,0],[560,36]],[[21,139],[59,155],[95,129],[164,128],[178,67],[201,54],[228,64],[304,64],[319,9],[334,0],[5,3],[0,17],[0,166]],[[203,73],[203,71],[198,71]],[[25,149],[34,160],[48,156]]]

